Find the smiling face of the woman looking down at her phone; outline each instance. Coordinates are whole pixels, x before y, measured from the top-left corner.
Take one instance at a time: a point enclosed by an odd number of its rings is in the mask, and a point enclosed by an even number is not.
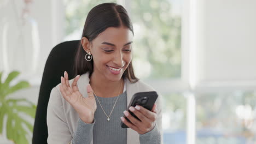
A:
[[[94,73],[102,79],[119,81],[132,59],[132,38],[126,27],[109,27],[92,40]]]

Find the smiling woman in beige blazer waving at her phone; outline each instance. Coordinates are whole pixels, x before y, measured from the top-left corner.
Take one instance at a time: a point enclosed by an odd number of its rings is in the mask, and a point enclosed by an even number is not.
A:
[[[49,144],[162,143],[160,95],[152,111],[129,107],[141,121],[127,111],[133,94],[154,91],[133,73],[132,38],[132,23],[121,5],[91,9],[75,56],[77,76],[68,80],[65,71],[50,94]],[[130,128],[121,128],[121,121]]]

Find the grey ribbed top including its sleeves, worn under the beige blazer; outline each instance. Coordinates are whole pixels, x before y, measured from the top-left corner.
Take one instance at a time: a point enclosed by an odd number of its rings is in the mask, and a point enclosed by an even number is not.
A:
[[[125,89],[125,88],[124,88]],[[102,98],[97,97],[104,111],[109,116],[117,97]],[[126,91],[119,95],[119,99],[110,116],[110,121],[107,121],[107,116],[97,103],[94,122],[92,124],[84,123],[80,118],[77,124],[77,130],[73,135],[72,144],[90,143],[93,137],[94,143],[125,143],[127,140],[127,129],[121,128],[121,116],[124,116],[123,111],[127,109]],[[139,135],[140,143],[161,143],[161,136],[157,126],[146,134]]]

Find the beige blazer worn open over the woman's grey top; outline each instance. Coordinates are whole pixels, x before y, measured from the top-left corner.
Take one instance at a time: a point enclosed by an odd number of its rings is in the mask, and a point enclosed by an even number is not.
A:
[[[69,80],[69,83],[73,82],[74,79]],[[77,86],[79,92],[83,94],[83,97],[88,97],[86,86],[88,85],[89,73],[83,74],[78,80]],[[154,88],[150,87],[146,83],[139,80],[136,83],[131,83],[126,79],[126,93],[127,93],[127,105],[129,105],[132,95],[137,92],[155,91]],[[60,84],[59,84],[60,85]],[[73,107],[62,97],[59,89],[59,85],[51,90],[50,99],[47,109],[47,125],[48,125],[48,143],[49,144],[65,144],[72,140],[73,134],[77,127],[79,119],[78,113]],[[156,100],[158,109],[157,125],[158,130],[161,131],[162,140],[162,109],[161,109],[161,95],[159,94]],[[137,131],[131,128],[127,129],[127,144],[138,144],[139,134]],[[163,142],[161,142],[163,143]],[[91,142],[92,144],[92,142]]]

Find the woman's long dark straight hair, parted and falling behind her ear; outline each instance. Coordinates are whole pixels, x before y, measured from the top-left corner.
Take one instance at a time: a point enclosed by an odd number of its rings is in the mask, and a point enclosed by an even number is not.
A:
[[[133,34],[132,23],[124,7],[116,3],[99,4],[90,10],[84,24],[82,38],[86,37],[91,42],[98,34],[105,31],[108,27],[121,26],[129,28]],[[80,44],[75,54],[75,75],[82,75],[89,71],[89,76],[91,76],[94,70],[94,59],[92,58],[89,62],[86,61],[86,54],[87,53],[83,49],[80,40]],[[132,68],[132,62],[130,62],[122,77],[126,77],[132,83],[138,81],[138,78],[135,76]]]

